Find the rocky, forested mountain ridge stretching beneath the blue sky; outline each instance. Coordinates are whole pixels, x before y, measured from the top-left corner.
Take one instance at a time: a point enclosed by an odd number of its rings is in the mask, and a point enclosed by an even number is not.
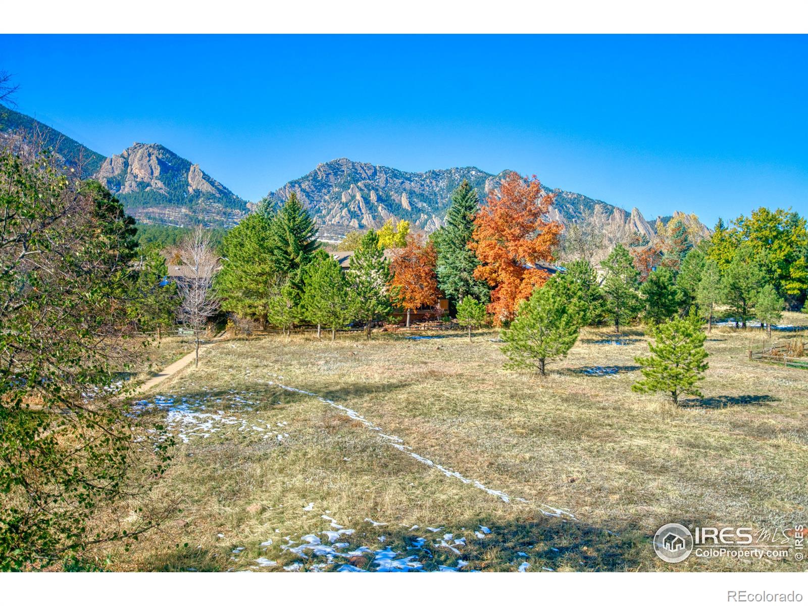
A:
[[[135,142],[120,154],[105,157],[47,124],[5,107],[0,107],[0,129],[36,133],[45,145],[57,147],[66,163],[80,165],[82,173],[103,183],[127,213],[144,223],[229,227],[257,206],[213,179],[199,164],[158,143]],[[354,229],[381,227],[389,219],[405,219],[415,230],[428,233],[444,225],[452,191],[464,180],[482,201],[510,172],[494,174],[477,166],[413,172],[343,157],[319,163],[314,170],[267,193],[264,200],[279,205],[295,191],[318,224],[319,237],[326,241],[339,241]],[[649,238],[656,233],[637,208],[629,212],[574,191],[546,186],[543,190],[555,196],[549,218],[562,224],[597,213],[610,241],[633,232]]]

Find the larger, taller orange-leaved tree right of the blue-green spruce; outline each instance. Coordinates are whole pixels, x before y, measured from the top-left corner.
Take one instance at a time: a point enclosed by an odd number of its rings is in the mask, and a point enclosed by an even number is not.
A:
[[[544,218],[553,197],[542,195],[536,175],[527,179],[511,173],[499,190],[490,192],[474,221],[469,248],[481,263],[474,277],[494,287],[487,309],[497,326],[510,322],[520,301],[549,278],[546,271],[532,266],[552,261],[553,247],[558,245],[562,225]]]

